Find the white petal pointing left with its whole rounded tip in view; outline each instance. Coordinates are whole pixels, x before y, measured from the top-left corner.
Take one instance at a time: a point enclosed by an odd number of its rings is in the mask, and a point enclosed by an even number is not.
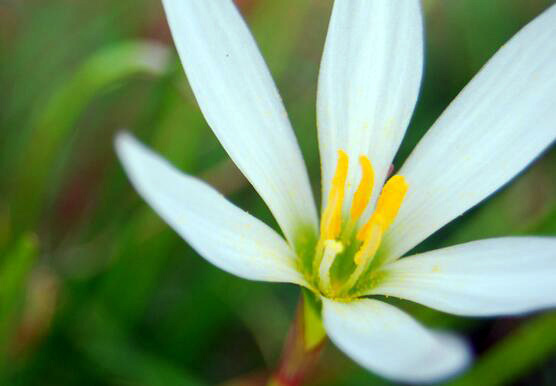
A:
[[[129,134],[118,135],[116,150],[139,194],[212,264],[245,279],[305,283],[295,255],[267,225]]]

